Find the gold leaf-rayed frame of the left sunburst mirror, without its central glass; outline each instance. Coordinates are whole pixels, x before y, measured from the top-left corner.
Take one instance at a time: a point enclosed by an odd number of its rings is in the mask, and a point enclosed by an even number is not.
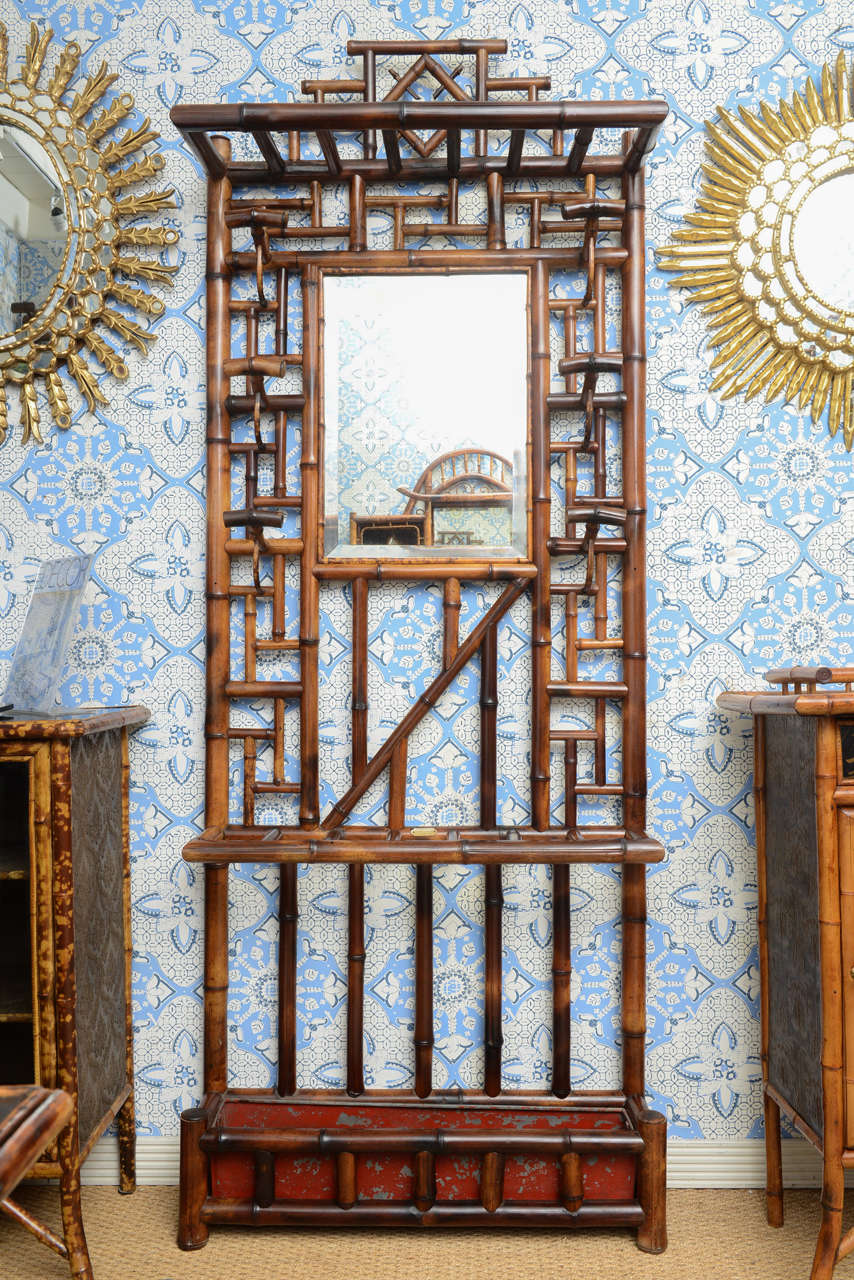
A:
[[[159,259],[125,252],[138,247],[165,248],[178,242],[178,233],[168,227],[138,221],[125,225],[127,219],[138,220],[141,215],[174,207],[173,188],[123,195],[125,188],[156,178],[163,169],[163,156],[151,150],[159,134],[146,119],[102,145],[129,115],[133,99],[120,93],[102,105],[118,79],[105,63],[74,86],[81,58],[76,44],[61,46],[50,78],[42,83],[52,38],[50,28],[40,32],[32,23],[23,63],[13,72],[6,28],[0,23],[0,124],[26,131],[50,156],[64,193],[68,224],[63,264],[46,301],[18,329],[0,334],[0,443],[8,430],[9,383],[17,385],[20,397],[24,444],[31,439],[42,442],[36,390],[40,379],[54,421],[63,429],[70,426],[72,410],[59,374],[63,365],[90,411],[106,404],[101,375],[90,367],[87,357],[93,356],[114,378],[127,378],[128,370],[115,347],[97,332],[99,326],[105,325],[145,352],[154,334],[131,314],[141,311],[156,317],[165,307],[140,282],[170,285],[177,270]]]

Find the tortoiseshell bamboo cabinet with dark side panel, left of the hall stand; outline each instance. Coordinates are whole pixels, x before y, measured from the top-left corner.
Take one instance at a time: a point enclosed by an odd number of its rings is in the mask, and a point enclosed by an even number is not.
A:
[[[77,1280],[92,1277],[81,1165],[113,1120],[119,1189],[136,1185],[127,732],[147,718],[122,707],[0,721],[0,1084],[73,1103],[28,1174],[59,1179],[64,1242],[0,1207]]]

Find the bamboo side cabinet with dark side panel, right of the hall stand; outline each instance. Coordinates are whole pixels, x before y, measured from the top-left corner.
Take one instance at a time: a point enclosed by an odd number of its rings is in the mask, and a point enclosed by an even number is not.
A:
[[[810,1280],[854,1251],[854,668],[769,671],[780,691],[725,692],[753,716],[768,1222],[782,1226],[780,1112],[823,1158]],[[842,689],[819,689],[819,685]]]

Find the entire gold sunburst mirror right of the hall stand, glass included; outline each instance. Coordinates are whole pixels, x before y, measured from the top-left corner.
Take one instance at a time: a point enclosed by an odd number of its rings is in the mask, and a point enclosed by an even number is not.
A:
[[[854,104],[845,56],[776,108],[707,123],[694,212],[661,266],[709,316],[711,390],[782,397],[854,443]]]

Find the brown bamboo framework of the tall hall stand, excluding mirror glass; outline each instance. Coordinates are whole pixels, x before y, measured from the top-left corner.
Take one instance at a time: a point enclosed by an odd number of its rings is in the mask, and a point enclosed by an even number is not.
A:
[[[666,1244],[665,1121],[645,1110],[643,1082],[645,864],[663,856],[645,824],[645,598],[644,598],[644,228],[643,156],[665,115],[658,102],[542,102],[543,78],[507,82],[489,72],[489,56],[501,41],[351,42],[362,59],[362,73],[346,82],[310,81],[303,86],[311,104],[246,105],[234,109],[181,106],[173,119],[201,157],[209,174],[209,717],[206,829],[191,841],[184,856],[206,867],[206,1068],[205,1100],[182,1120],[182,1210],[179,1243],[198,1248],[213,1222],[437,1222],[488,1225],[580,1226],[586,1224],[636,1226],[641,1248]],[[383,59],[411,54],[383,100],[378,77]],[[460,55],[453,69],[447,59]],[[471,95],[458,82],[472,59]],[[378,64],[378,59],[380,60]],[[423,77],[438,83],[442,101],[412,101]],[[513,87],[524,102],[495,101],[492,95]],[[341,93],[360,101],[329,102]],[[626,131],[621,150],[593,150],[597,131]],[[357,138],[356,154],[339,145],[347,129]],[[548,131],[551,154],[526,154],[531,129]],[[257,143],[261,160],[232,160],[228,138],[246,133]],[[425,131],[433,131],[425,137]],[[287,138],[287,154],[279,141]],[[463,138],[471,146],[463,147]],[[316,151],[314,150],[316,147]],[[306,152],[314,151],[311,156]],[[595,178],[622,179],[620,200],[597,195]],[[549,191],[516,191],[519,179],[545,178]],[[438,195],[414,196],[402,184],[435,180]],[[346,183],[347,221],[324,220],[321,188]],[[460,221],[460,182],[478,183],[485,221]],[[286,197],[260,196],[259,184],[294,187]],[[376,183],[388,189],[376,192]],[[580,189],[579,189],[580,184]],[[234,200],[232,188],[248,196]],[[526,209],[530,243],[507,247],[507,205]],[[382,209],[393,225],[393,247],[371,247],[369,211]],[[545,216],[545,211],[549,216]],[[426,211],[426,212],[425,212]],[[430,211],[438,216],[430,218]],[[410,221],[408,218],[416,220]],[[417,220],[421,219],[421,220]],[[251,234],[252,248],[234,248],[236,234]],[[543,239],[567,232],[579,243],[543,246]],[[599,232],[618,233],[599,244]],[[435,236],[453,236],[465,248],[433,248]],[[333,247],[333,239],[335,247]],[[414,246],[412,241],[420,241]],[[481,241],[481,247],[470,244]],[[315,243],[309,243],[315,242]],[[426,242],[426,247],[424,247]],[[320,248],[316,244],[320,243]],[[585,271],[577,298],[553,297],[554,271]],[[443,558],[437,553],[417,562],[324,559],[324,421],[323,421],[323,282],[328,274],[493,273],[524,271],[529,282],[529,509],[528,557],[507,561]],[[624,294],[621,349],[606,348],[606,276],[620,273]],[[287,340],[287,283],[297,275],[302,296],[301,351]],[[256,298],[232,300],[237,278],[255,282]],[[273,283],[275,293],[271,293]],[[261,325],[274,312],[275,343],[262,353]],[[588,312],[593,352],[579,348],[579,315]],[[232,326],[245,326],[243,349],[233,349]],[[552,328],[563,326],[563,360],[552,355]],[[603,390],[599,375],[616,372],[621,389]],[[266,379],[301,376],[300,390],[266,388]],[[245,379],[232,392],[232,379]],[[556,390],[554,383],[562,389]],[[581,384],[580,384],[581,383]],[[580,384],[580,385],[579,385]],[[568,440],[553,430],[554,415],[583,416],[581,435]],[[232,422],[251,419],[252,434],[233,436]],[[620,419],[624,451],[622,493],[607,492],[606,416]],[[286,485],[284,453],[289,421],[302,424],[301,486]],[[273,420],[273,439],[265,424]],[[261,493],[261,460],[271,461],[273,492]],[[562,458],[566,470],[565,536],[553,538],[551,467]],[[237,470],[234,470],[237,468]],[[241,470],[242,468],[242,470]],[[592,494],[581,477],[589,470]],[[232,477],[243,485],[239,509],[232,509]],[[440,500],[439,489],[431,500]],[[416,490],[419,485],[416,485]],[[414,502],[420,494],[411,492]],[[483,500],[483,499],[481,499]],[[277,536],[288,509],[300,512],[300,534]],[[616,536],[603,536],[602,525],[615,525]],[[579,527],[581,526],[581,527]],[[241,534],[239,530],[243,530]],[[586,573],[568,581],[556,572],[562,557],[581,553]],[[233,566],[251,562],[252,581],[236,581]],[[608,634],[608,566],[622,566],[622,635]],[[298,563],[300,631],[286,635],[286,564]],[[262,568],[269,566],[269,572]],[[266,576],[265,576],[266,575]],[[270,585],[271,577],[271,585]],[[318,776],[318,644],[319,594],[324,581],[350,586],[352,607],[352,673],[350,724],[351,785],[328,813],[319,809]],[[369,755],[367,748],[367,611],[371,581],[442,582],[442,669],[410,708],[385,742]],[[460,636],[461,582],[494,581],[498,598]],[[504,827],[498,812],[498,646],[499,627],[515,602],[530,595],[531,605],[531,820]],[[565,678],[552,672],[552,602],[563,608],[567,627]],[[243,614],[242,675],[232,676],[229,659],[230,611]],[[260,612],[271,617],[271,640],[260,637]],[[583,635],[579,618],[590,612],[592,635]],[[262,646],[292,650],[298,675],[287,680],[260,678]],[[622,662],[615,678],[586,680],[579,663],[585,650],[612,652]],[[419,828],[407,824],[408,740],[420,721],[467,664],[480,664],[480,812],[472,828]],[[268,699],[269,727],[232,726],[233,699]],[[552,728],[556,699],[592,699],[594,727],[588,731]],[[300,713],[300,780],[284,773],[286,705]],[[620,707],[622,719],[622,778],[607,769],[606,707]],[[242,762],[242,804],[228,813],[229,748]],[[563,820],[553,814],[552,744],[563,753],[566,806]],[[593,777],[580,774],[580,750],[590,744]],[[273,753],[271,781],[260,772],[262,753]],[[352,820],[360,799],[387,776],[388,818],[384,827],[367,828]],[[293,824],[259,823],[259,797],[298,794]],[[622,815],[604,823],[592,819],[589,804],[616,803]],[[227,998],[227,884],[232,863],[274,863],[280,868],[279,937],[279,1068],[274,1091],[225,1088]],[[329,1093],[296,1085],[296,870],[300,861],[347,864],[347,1051],[346,1085]],[[551,1089],[533,1094],[510,1091],[502,1082],[502,867],[542,861],[553,876],[553,1021],[554,1068]],[[415,1019],[414,1080],[410,1091],[366,1088],[364,1064],[365,1001],[365,874],[364,867],[412,864],[415,888]],[[622,1032],[624,1082],[613,1092],[572,1091],[570,1078],[570,893],[571,865],[599,863],[620,868],[622,878]],[[434,974],[433,868],[442,864],[484,867],[485,995],[483,1088],[455,1093],[462,1128],[430,1116],[443,1115],[447,1091],[434,1087]],[[359,1098],[359,1108],[376,1126],[337,1128],[344,1100]],[[419,1103],[410,1114],[401,1098]],[[251,1103],[255,1121],[232,1121]],[[352,1103],[355,1106],[355,1103]],[[548,1133],[502,1128],[497,1116],[520,1117],[526,1106],[552,1121],[566,1112],[571,1130],[557,1125]],[[297,1108],[294,1111],[293,1108]],[[293,1125],[292,1116],[323,1108],[323,1119]],[[373,1110],[371,1110],[373,1108]],[[497,1110],[495,1110],[497,1108]],[[521,1110],[520,1110],[521,1108]],[[557,1110],[556,1110],[557,1108]],[[361,1114],[361,1110],[360,1110]],[[456,1112],[455,1112],[456,1114]],[[318,1112],[320,1115],[320,1112]],[[412,1116],[416,1116],[415,1121]],[[478,1133],[465,1129],[470,1116],[483,1119]],[[391,1117],[391,1119],[389,1119]],[[412,1123],[416,1124],[412,1128]],[[576,1128],[580,1125],[580,1128]],[[589,1125],[599,1125],[592,1132]],[[604,1126],[604,1128],[602,1128]],[[230,1153],[233,1170],[247,1170],[246,1190],[229,1193],[229,1175],[220,1157]],[[397,1152],[412,1155],[408,1199],[367,1202],[360,1192],[360,1160],[371,1156],[379,1166]],[[328,1198],[293,1201],[277,1193],[282,1166],[294,1153],[311,1155],[319,1166],[329,1161]],[[478,1197],[448,1201],[437,1161],[443,1155],[471,1158],[478,1165]],[[513,1161],[507,1156],[557,1162],[557,1193],[549,1203],[513,1199]],[[598,1201],[590,1178],[604,1169],[608,1153],[626,1160],[629,1183],[613,1202]],[[581,1158],[586,1156],[585,1164]],[[609,1158],[609,1157],[608,1157]],[[592,1164],[590,1164],[592,1162]],[[609,1166],[608,1166],[609,1167]],[[590,1169],[594,1172],[590,1172]],[[234,1174],[234,1176],[237,1176]],[[243,1175],[241,1175],[243,1176]],[[608,1176],[616,1176],[608,1174]],[[621,1175],[622,1176],[622,1175]],[[245,1188],[248,1184],[239,1184]],[[549,1183],[551,1185],[551,1183]],[[237,1183],[234,1183],[237,1187]],[[439,1197],[439,1198],[438,1198]]]

